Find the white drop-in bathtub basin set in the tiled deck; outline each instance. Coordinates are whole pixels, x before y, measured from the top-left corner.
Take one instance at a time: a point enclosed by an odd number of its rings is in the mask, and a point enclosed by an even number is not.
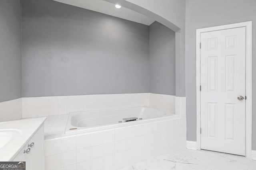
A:
[[[163,112],[152,107],[126,107],[99,111],[70,112],[65,133],[123,127],[126,125],[156,121],[156,119],[164,120],[169,116],[174,116],[174,114]],[[138,119],[136,121],[125,122],[123,118],[128,117],[137,117]],[[122,123],[120,123],[120,121],[122,121]]]

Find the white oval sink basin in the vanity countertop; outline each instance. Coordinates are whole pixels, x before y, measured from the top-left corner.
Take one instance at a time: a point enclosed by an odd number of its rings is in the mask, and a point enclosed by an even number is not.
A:
[[[17,139],[22,132],[18,129],[2,129],[0,130],[0,149]]]

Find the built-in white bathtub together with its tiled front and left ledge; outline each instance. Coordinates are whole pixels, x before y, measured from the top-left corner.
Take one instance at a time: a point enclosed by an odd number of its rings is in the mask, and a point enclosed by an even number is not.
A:
[[[127,117],[138,119],[124,122]],[[46,126],[46,170],[117,170],[186,147],[186,117],[152,107],[70,112],[55,118]],[[53,135],[60,125],[60,134]]]

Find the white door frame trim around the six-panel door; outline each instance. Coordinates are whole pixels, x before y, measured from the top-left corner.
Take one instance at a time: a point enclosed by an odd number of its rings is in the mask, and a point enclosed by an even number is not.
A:
[[[246,27],[246,100],[245,100],[245,116],[246,116],[246,150],[245,156],[252,157],[252,21],[234,23],[229,25],[221,25],[216,27],[208,27],[196,29],[196,143],[197,149],[201,149],[201,113],[200,113],[200,34],[210,31],[219,31],[223,29],[232,29],[238,27]]]

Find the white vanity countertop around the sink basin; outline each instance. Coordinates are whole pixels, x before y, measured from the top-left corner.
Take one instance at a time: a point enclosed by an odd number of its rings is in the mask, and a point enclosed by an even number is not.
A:
[[[21,119],[16,121],[0,122],[0,131],[2,130],[17,130],[18,135],[11,140],[7,145],[0,148],[0,161],[10,161],[22,149],[29,139],[44,123],[46,117]],[[1,139],[0,139],[1,140]]]

